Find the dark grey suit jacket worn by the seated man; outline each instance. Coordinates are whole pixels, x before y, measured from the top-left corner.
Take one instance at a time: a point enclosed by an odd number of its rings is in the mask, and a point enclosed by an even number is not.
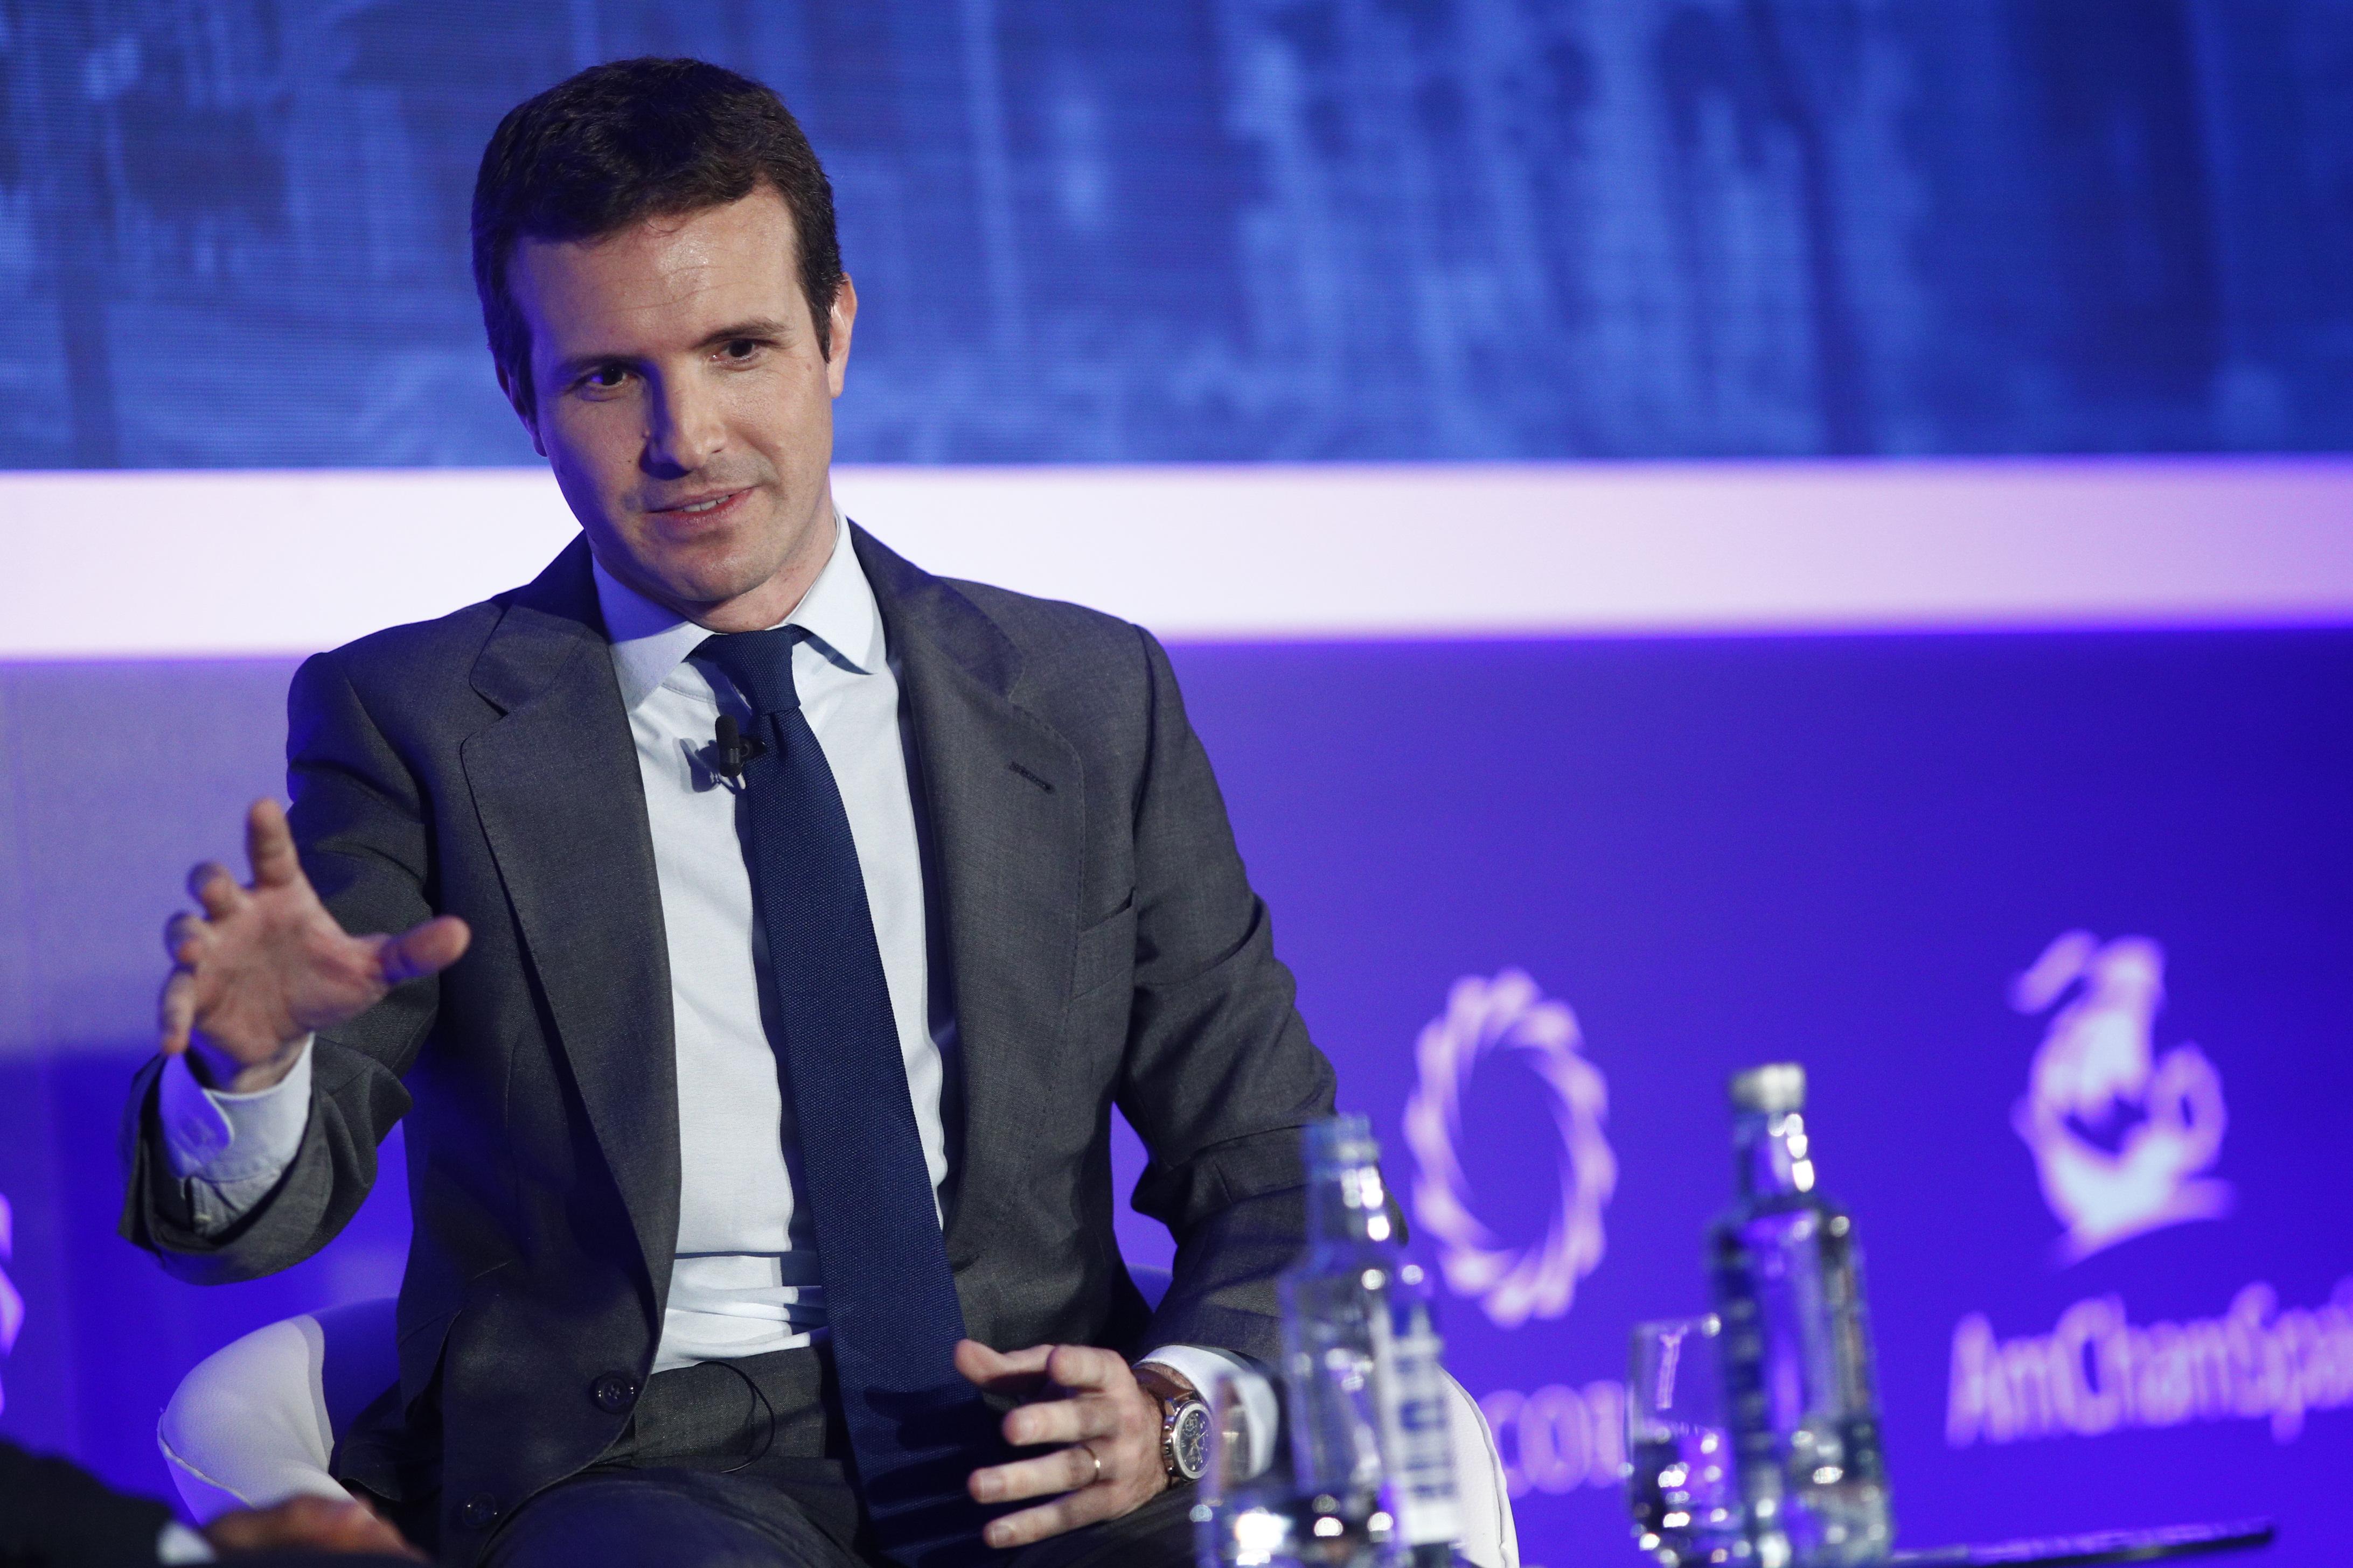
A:
[[[854,531],[901,661],[962,1053],[948,1262],[974,1338],[1221,1345],[1271,1361],[1304,1234],[1299,1126],[1329,1114],[1167,656],[1134,625],[934,578]],[[200,1237],[153,1114],[122,1232],[191,1281],[308,1258],[407,1119],[400,1389],[339,1472],[440,1488],[447,1556],[621,1432],[678,1237],[671,978],[645,792],[588,550],[440,621],[301,665],[301,860],[351,931],[461,914],[473,947],[315,1044],[273,1194]],[[1176,1237],[1155,1314],[1113,1241],[1108,1112]],[[605,1401],[593,1396],[600,1380]],[[471,1505],[471,1507],[468,1507]]]

